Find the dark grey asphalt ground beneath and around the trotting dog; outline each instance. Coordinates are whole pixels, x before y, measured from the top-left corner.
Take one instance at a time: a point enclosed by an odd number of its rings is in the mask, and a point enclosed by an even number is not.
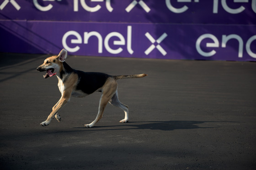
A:
[[[256,63],[69,56],[74,69],[118,80],[124,113],[100,93],[71,98],[62,121],[43,127],[59,100],[57,78],[37,66],[50,55],[0,53],[1,170],[255,170]]]

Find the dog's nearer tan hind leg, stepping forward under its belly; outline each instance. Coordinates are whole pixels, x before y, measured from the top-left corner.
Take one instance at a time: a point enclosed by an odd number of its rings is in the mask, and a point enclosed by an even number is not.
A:
[[[111,100],[112,96],[117,90],[117,82],[115,80],[107,80],[105,85],[102,87],[102,95],[100,99],[99,111],[96,119],[90,124],[85,125],[85,127],[93,127],[103,116],[103,112],[106,108],[107,103]]]

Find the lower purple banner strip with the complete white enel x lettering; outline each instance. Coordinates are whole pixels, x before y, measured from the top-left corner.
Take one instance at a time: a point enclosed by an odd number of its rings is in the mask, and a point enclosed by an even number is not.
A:
[[[6,39],[0,48],[26,53],[56,54],[65,48],[75,55],[256,60],[255,28],[254,25],[5,21],[0,24],[0,36],[13,37]]]

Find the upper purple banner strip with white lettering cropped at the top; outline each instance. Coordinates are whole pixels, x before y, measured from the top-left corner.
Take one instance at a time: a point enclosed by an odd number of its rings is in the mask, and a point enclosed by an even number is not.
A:
[[[0,19],[256,24],[256,0],[0,0]]]

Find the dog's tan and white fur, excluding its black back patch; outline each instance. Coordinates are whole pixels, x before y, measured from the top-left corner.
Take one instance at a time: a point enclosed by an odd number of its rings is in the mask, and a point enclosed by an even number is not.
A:
[[[59,86],[59,91],[61,92],[61,98],[59,101],[53,106],[52,112],[48,116],[47,120],[43,121],[41,125],[46,126],[49,125],[53,117],[60,122],[61,117],[58,114],[59,110],[63,108],[64,105],[66,105],[71,96],[73,95],[74,97],[85,97],[86,95],[81,91],[76,91],[76,86],[78,84],[78,80],[80,79],[79,76],[75,73],[66,73],[64,77],[60,76],[61,72],[65,72],[63,62],[67,57],[67,51],[66,50],[61,50],[59,55],[57,56],[52,56],[48,57],[47,59],[44,60],[43,65],[40,65],[37,67],[38,71],[46,71],[49,69],[54,69],[56,71],[56,76],[59,80],[58,86]],[[96,90],[96,91],[101,91],[101,99],[100,99],[100,105],[99,105],[99,110],[98,114],[96,116],[96,119],[92,121],[90,124],[86,124],[85,127],[93,127],[99,120],[101,120],[103,116],[103,112],[106,108],[107,103],[109,102],[111,105],[117,106],[121,108],[124,113],[125,113],[125,118],[123,120],[120,120],[120,122],[125,123],[128,122],[128,106],[124,105],[118,100],[118,95],[117,95],[117,81],[118,79],[128,79],[128,78],[140,78],[144,77],[146,74],[140,74],[140,75],[117,75],[117,76],[111,76],[107,78],[106,82],[104,85]],[[47,78],[47,77],[46,77]],[[64,82],[63,82],[64,80]]]

